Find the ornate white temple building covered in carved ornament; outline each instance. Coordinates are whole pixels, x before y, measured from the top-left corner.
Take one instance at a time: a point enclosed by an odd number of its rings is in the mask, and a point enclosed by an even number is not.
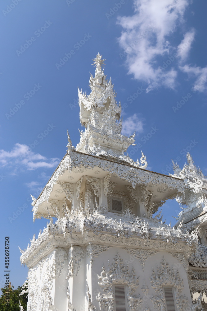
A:
[[[135,134],[121,134],[101,55],[94,64],[90,95],[78,91],[80,142],[68,134],[66,155],[33,198],[34,220],[50,222],[21,251],[27,311],[207,310],[207,179],[189,154],[170,176],[147,170],[143,153],[130,159]],[[183,210],[171,228],[157,211],[173,198]]]

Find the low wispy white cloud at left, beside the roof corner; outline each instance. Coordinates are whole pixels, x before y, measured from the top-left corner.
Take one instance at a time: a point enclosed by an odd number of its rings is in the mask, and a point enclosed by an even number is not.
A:
[[[59,164],[58,158],[47,159],[45,156],[32,151],[29,146],[16,143],[11,151],[0,150],[0,164],[2,167],[25,167],[28,170],[37,168],[52,168]]]

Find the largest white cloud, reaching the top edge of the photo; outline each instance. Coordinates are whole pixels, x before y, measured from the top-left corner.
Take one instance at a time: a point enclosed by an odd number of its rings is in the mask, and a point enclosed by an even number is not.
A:
[[[124,28],[119,44],[127,53],[128,73],[148,84],[146,92],[176,86],[177,71],[172,65],[162,69],[158,59],[175,52],[170,36],[183,21],[188,4],[188,0],[134,0],[134,15],[118,18]]]

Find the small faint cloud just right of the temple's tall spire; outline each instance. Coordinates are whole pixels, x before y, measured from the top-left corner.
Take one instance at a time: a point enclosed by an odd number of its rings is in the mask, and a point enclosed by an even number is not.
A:
[[[134,131],[140,133],[143,132],[144,119],[139,118],[137,114],[126,118],[122,123],[122,134],[123,135],[132,135]]]

